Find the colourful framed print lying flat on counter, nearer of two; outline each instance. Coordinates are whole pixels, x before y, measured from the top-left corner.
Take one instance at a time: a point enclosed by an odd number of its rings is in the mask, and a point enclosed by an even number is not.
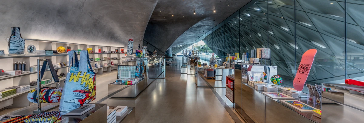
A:
[[[294,109],[297,109],[301,112],[312,112],[312,110],[315,110],[316,108],[309,106],[301,101],[298,100],[280,100],[282,103],[293,107]]]

